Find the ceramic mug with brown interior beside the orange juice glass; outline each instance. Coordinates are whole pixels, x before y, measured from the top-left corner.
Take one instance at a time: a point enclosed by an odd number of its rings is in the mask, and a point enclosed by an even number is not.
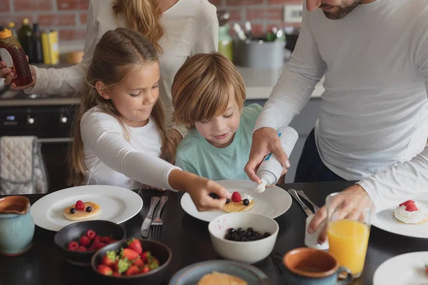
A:
[[[287,284],[299,285],[345,285],[352,281],[351,272],[328,252],[302,247],[287,252],[282,259]],[[346,279],[337,281],[339,274]]]

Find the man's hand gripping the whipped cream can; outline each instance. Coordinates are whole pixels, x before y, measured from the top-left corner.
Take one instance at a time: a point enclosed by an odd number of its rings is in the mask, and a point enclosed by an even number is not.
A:
[[[253,143],[251,145],[250,159],[247,165],[245,165],[245,172],[247,173],[250,180],[260,184],[260,178],[255,174],[262,163],[266,155],[273,153],[277,159],[281,162],[284,168],[284,175],[287,172],[287,168],[290,167],[290,162],[282,150],[280,137],[274,128],[260,128],[253,134]],[[281,176],[282,176],[281,175]]]

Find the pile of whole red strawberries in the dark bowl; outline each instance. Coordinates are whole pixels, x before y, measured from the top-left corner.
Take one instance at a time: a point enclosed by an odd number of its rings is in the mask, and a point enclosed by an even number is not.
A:
[[[128,247],[121,251],[109,251],[98,264],[98,272],[108,276],[129,276],[143,274],[157,269],[159,261],[151,252],[143,252],[138,239],[128,241]]]

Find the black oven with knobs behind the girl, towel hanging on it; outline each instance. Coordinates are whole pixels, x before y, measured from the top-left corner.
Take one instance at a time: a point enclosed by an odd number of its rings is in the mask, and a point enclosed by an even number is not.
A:
[[[0,136],[38,138],[49,192],[67,187],[71,126],[78,103],[71,96],[26,95],[11,90],[0,93]]]

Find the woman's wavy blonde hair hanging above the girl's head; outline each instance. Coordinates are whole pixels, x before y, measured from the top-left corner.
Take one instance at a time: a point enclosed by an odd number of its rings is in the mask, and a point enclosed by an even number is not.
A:
[[[162,51],[158,41],[163,36],[162,10],[159,0],[116,0],[113,4],[115,16],[123,16],[128,28],[143,33]]]

